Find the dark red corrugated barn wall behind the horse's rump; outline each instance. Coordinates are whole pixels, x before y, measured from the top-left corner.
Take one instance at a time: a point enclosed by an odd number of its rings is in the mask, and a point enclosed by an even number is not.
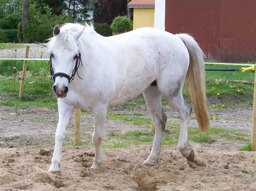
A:
[[[165,30],[193,35],[207,59],[255,62],[256,0],[165,0],[162,11]]]

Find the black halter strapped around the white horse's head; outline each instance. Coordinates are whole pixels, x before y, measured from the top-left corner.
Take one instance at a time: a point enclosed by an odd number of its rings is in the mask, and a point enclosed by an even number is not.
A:
[[[79,62],[78,62],[79,61]],[[50,75],[51,75],[51,78],[52,80],[55,82],[55,77],[56,76],[60,76],[60,77],[66,77],[68,80],[69,80],[69,84],[72,82],[72,80],[74,79],[76,73],[77,73],[77,69],[78,67],[80,66],[80,63],[82,64],[82,61],[81,61],[81,54],[80,52],[78,53],[78,55],[76,56],[76,65],[75,65],[75,68],[73,69],[73,72],[72,72],[72,75],[71,77],[68,75],[68,74],[65,74],[65,73],[62,73],[62,72],[57,72],[54,74],[53,72],[53,67],[52,67],[52,56],[50,55],[50,61],[49,61],[49,64],[50,64]],[[83,64],[82,64],[83,66]],[[77,73],[78,75],[78,73]],[[80,79],[82,79],[79,75],[78,77]],[[83,79],[82,79],[83,80]]]

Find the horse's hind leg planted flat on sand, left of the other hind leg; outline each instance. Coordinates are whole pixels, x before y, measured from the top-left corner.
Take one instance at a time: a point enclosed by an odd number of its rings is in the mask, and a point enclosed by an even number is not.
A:
[[[160,159],[160,150],[162,137],[164,135],[165,124],[167,117],[164,113],[161,103],[162,94],[158,90],[158,87],[154,84],[149,86],[144,92],[147,108],[152,115],[154,126],[155,126],[155,138],[151,153],[147,160],[143,163],[146,166],[154,166],[158,164]]]

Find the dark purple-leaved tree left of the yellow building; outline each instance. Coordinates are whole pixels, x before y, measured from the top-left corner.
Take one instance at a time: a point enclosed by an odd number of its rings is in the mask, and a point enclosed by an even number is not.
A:
[[[111,24],[117,16],[127,16],[127,0],[98,0],[95,2],[94,22]]]

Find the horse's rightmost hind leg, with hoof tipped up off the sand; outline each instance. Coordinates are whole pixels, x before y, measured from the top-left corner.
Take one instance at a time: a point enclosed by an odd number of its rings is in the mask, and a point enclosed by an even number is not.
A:
[[[181,90],[178,94],[169,96],[164,95],[164,98],[180,115],[181,128],[178,143],[179,151],[187,159],[187,163],[191,168],[205,166],[206,164],[200,158],[196,157],[191,145],[188,144],[187,141],[187,130],[192,107],[185,102]]]

